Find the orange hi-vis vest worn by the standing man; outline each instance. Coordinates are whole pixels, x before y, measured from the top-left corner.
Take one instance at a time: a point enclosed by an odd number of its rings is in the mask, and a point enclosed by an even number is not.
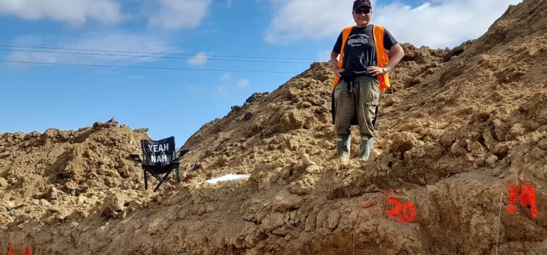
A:
[[[340,60],[338,60],[338,68],[342,68],[344,63],[344,48],[346,46],[347,38],[350,37],[353,26],[349,26],[342,30],[342,48],[340,49]],[[374,25],[372,28],[374,37],[374,45],[376,45],[376,58],[378,67],[385,67],[389,63],[389,57],[387,56],[386,49],[384,49],[384,26]],[[384,92],[387,88],[391,87],[389,84],[389,76],[387,74],[378,74],[377,77],[380,82],[380,91]],[[335,87],[340,81],[340,77],[335,76],[335,82],[332,84]]]

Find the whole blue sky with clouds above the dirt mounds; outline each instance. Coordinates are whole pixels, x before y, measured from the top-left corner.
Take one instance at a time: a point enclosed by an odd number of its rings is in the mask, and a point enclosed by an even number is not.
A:
[[[0,134],[115,118],[182,146],[318,61],[353,0],[0,0]],[[372,0],[399,42],[452,48],[521,0]]]

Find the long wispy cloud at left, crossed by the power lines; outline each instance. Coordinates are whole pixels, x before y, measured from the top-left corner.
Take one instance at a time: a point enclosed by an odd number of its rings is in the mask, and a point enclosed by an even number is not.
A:
[[[157,57],[163,56],[163,53],[175,52],[175,49],[170,47],[169,43],[168,40],[156,35],[129,32],[88,33],[79,38],[26,36],[14,40],[13,45],[48,45],[48,47],[58,49],[79,50],[24,48],[23,50],[35,50],[35,52],[19,52],[17,50],[21,50],[21,48],[13,47],[14,51],[6,57],[6,60],[70,64],[135,64],[156,61],[158,60]],[[129,52],[155,52],[159,54],[146,55]]]

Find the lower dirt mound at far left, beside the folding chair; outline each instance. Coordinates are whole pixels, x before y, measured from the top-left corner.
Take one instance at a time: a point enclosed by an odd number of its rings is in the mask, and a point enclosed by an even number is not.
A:
[[[0,135],[2,226],[82,220],[107,193],[135,193],[141,175],[125,157],[140,151],[141,139],[149,139],[146,130],[114,119],[77,131]]]

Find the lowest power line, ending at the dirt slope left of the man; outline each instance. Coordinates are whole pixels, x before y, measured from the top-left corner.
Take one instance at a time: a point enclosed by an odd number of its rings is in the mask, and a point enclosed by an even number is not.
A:
[[[177,68],[177,67],[136,67],[136,66],[117,66],[107,64],[75,64],[75,63],[51,63],[51,62],[31,62],[31,61],[10,61],[0,60],[5,63],[19,64],[50,64],[50,65],[66,65],[77,67],[119,67],[119,68],[136,68],[136,69],[163,69],[163,70],[178,70],[178,71],[207,71],[207,72],[249,72],[249,73],[266,73],[266,74],[297,74],[296,72],[275,72],[275,71],[251,71],[251,70],[230,70],[230,69],[194,69],[194,68]]]

